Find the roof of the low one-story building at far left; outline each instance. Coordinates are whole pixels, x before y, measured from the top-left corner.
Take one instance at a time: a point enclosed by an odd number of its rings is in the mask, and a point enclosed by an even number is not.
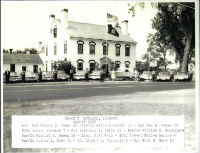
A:
[[[3,64],[43,64],[38,54],[3,53]]]

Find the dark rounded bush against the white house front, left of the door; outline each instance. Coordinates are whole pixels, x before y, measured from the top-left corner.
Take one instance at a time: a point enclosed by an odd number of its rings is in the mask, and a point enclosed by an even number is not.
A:
[[[70,61],[64,60],[59,61],[57,64],[57,70],[65,71],[66,74],[70,74],[70,70],[76,71],[76,68],[71,64]]]

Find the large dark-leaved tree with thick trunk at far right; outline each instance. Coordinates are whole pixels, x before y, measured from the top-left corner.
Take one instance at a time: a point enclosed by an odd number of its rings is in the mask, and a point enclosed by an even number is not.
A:
[[[157,8],[152,27],[160,32],[163,42],[174,48],[181,71],[187,72],[195,47],[194,3],[158,3]]]

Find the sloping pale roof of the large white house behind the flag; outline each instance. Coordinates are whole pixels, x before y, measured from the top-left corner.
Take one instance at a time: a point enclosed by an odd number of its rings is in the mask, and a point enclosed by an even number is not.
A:
[[[56,21],[61,23],[60,19],[56,19]],[[119,37],[107,33],[106,25],[96,25],[96,24],[80,23],[74,21],[68,22],[68,31],[70,37],[97,39],[104,41],[107,40],[107,41],[125,42],[133,44],[137,43],[130,35],[123,35],[121,28],[115,28],[115,29],[119,33]]]

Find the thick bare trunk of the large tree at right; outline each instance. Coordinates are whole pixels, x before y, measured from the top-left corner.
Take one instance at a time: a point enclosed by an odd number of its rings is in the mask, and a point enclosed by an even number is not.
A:
[[[181,64],[181,72],[188,71],[188,55],[189,55],[189,51],[190,51],[191,40],[192,40],[191,35],[187,36],[183,60],[182,60],[182,64]]]

